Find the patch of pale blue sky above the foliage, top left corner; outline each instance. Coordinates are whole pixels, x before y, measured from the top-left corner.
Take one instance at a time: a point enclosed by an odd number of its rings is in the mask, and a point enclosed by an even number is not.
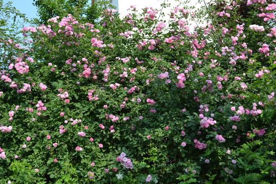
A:
[[[33,6],[33,0],[4,0],[4,4],[12,2],[20,13],[25,13],[28,18],[37,18],[36,7]]]

